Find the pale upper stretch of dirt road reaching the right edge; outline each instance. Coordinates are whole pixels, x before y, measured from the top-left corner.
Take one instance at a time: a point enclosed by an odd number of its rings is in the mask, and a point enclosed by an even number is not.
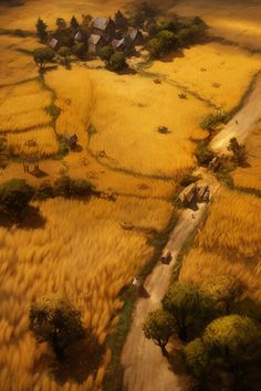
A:
[[[227,147],[232,137],[244,142],[255,124],[261,119],[261,75],[248,97],[244,106],[234,115],[228,125],[212,139],[210,147],[216,152],[228,154]]]

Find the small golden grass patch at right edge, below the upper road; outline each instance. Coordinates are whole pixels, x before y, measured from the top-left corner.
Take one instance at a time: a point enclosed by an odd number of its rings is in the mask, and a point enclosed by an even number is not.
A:
[[[261,190],[261,125],[251,133],[247,141],[248,163],[238,168],[232,177],[237,187]]]

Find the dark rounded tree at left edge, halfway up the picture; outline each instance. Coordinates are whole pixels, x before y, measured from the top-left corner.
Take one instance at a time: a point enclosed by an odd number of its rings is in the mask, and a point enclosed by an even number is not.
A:
[[[4,212],[18,216],[32,200],[34,190],[22,179],[0,184],[0,204]]]

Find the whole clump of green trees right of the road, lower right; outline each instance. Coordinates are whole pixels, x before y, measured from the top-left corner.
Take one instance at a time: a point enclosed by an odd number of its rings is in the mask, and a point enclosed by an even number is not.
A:
[[[195,283],[174,283],[163,299],[163,308],[149,313],[145,337],[160,347],[178,337],[186,366],[200,382],[209,372],[232,373],[237,387],[248,370],[261,359],[259,320],[237,314],[243,285],[233,277],[221,277],[199,287]]]

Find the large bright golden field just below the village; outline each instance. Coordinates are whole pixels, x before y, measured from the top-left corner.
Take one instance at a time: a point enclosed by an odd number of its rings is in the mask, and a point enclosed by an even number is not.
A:
[[[97,133],[88,148],[94,155],[105,150],[101,162],[136,173],[173,177],[195,165],[190,137],[206,137],[198,125],[208,113],[202,103],[180,101],[176,87],[158,86],[140,76],[119,77],[79,66],[67,75],[69,71],[59,68],[45,77],[62,109],[59,134],[75,133],[85,149],[92,124]],[[167,126],[170,133],[160,135],[159,126]]]

